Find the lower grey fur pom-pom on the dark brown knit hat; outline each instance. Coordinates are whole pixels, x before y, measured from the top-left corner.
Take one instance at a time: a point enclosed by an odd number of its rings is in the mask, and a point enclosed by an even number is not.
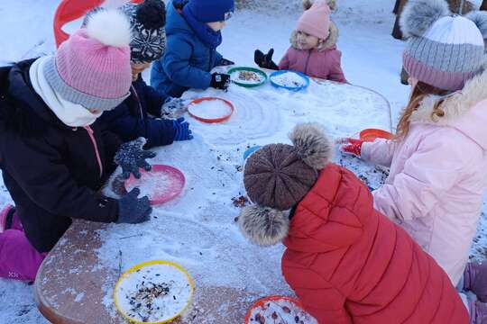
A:
[[[277,244],[289,232],[289,218],[283,211],[258,205],[243,208],[238,225],[246,238],[260,246]]]

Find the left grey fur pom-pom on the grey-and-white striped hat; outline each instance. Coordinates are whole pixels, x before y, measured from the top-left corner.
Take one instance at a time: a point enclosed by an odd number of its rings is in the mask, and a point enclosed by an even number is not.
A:
[[[409,0],[400,15],[400,29],[406,37],[422,36],[443,16],[450,14],[445,0]]]

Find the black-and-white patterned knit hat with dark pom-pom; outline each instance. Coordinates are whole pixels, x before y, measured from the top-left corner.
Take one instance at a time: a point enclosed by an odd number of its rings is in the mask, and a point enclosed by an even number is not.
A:
[[[152,62],[166,49],[166,8],[161,0],[145,0],[142,4],[125,4],[122,11],[132,28],[130,42],[133,63]]]

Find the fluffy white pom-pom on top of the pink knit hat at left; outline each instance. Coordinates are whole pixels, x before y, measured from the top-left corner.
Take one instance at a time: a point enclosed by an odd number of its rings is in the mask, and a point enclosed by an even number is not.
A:
[[[129,46],[130,23],[126,15],[119,10],[100,10],[89,17],[87,34],[107,46]]]

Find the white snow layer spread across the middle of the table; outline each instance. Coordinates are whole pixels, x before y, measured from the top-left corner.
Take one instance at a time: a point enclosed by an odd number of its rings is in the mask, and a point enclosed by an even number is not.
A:
[[[227,93],[210,89],[184,94],[187,99],[203,96],[231,101],[234,114],[215,124],[188,117],[195,139],[156,149],[158,156],[151,162],[179,168],[187,179],[185,191],[175,201],[154,206],[147,223],[112,224],[100,230],[104,241],[97,251],[100,266],[118,271],[121,251],[122,271],[155,259],[177,262],[188,269],[197,291],[198,286],[216,286],[260,296],[292,295],[280,273],[283,247],[252,245],[234,221],[240,209],[234,207],[232,198],[245,194],[244,150],[257,144],[289,142],[289,131],[301,121],[318,121],[335,137],[353,136],[369,127],[389,130],[388,104],[378,94],[333,83],[313,83],[299,94],[271,85],[257,89],[231,85]],[[342,164],[358,161],[342,159]],[[374,167],[360,167],[381,180]],[[113,310],[112,289],[106,286],[105,304]]]

